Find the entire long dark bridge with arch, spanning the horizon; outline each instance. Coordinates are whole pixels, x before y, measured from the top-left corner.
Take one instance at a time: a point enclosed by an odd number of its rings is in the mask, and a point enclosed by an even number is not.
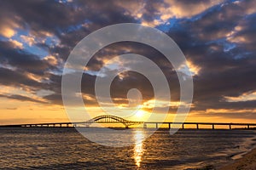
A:
[[[178,124],[182,128],[185,128],[184,125],[194,125],[196,129],[200,129],[200,125],[210,125],[212,129],[215,129],[216,126],[227,126],[229,129],[232,129],[233,126],[236,127],[246,127],[246,128],[255,128],[256,123],[232,123],[232,122],[137,122],[137,121],[129,121],[125,120],[119,116],[113,115],[102,115],[96,116],[88,121],[84,122],[49,122],[49,123],[30,123],[30,124],[15,124],[15,125],[0,125],[0,127],[90,127],[93,123],[121,123],[126,128],[132,125],[140,125],[143,124],[143,127],[147,127],[149,124],[154,124],[156,128],[159,125],[168,125],[168,128],[172,128],[173,124]]]

